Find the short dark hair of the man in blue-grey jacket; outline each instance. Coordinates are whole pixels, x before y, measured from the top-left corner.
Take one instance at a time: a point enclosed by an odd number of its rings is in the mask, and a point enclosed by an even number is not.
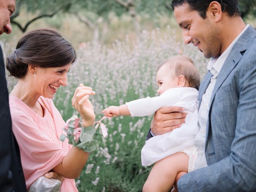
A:
[[[188,3],[191,10],[197,11],[200,16],[205,19],[206,11],[208,6],[214,0],[172,0],[172,9],[178,7],[184,3]],[[228,13],[228,16],[241,16],[238,9],[238,1],[237,0],[215,0],[219,2],[221,5],[222,12]]]

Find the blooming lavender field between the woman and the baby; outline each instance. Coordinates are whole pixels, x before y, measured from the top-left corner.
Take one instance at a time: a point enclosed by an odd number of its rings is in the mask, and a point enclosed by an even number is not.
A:
[[[78,59],[68,74],[68,85],[58,89],[54,103],[64,120],[77,114],[71,98],[75,88],[83,83],[91,86],[96,95],[90,97],[96,120],[101,111],[110,105],[120,105],[130,100],[156,96],[156,68],[160,62],[176,54],[190,56],[200,70],[201,79],[206,74],[207,61],[197,48],[185,46],[176,39],[170,28],[161,33],[142,31],[142,38],[118,41],[112,46],[100,43],[80,44]],[[2,43],[6,54],[12,48]],[[9,90],[16,80],[7,77]],[[118,117],[104,120],[108,136],[100,130],[94,136],[98,148],[90,154],[80,178],[76,180],[81,192],[139,192],[151,167],[143,167],[140,150],[150,128],[152,116],[143,118]]]

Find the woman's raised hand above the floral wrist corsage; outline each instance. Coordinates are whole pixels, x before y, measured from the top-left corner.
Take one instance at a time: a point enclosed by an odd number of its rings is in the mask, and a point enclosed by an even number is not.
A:
[[[91,87],[80,84],[74,93],[72,98],[72,106],[78,110],[82,117],[82,125],[85,127],[92,126],[95,120],[95,114],[92,103],[89,100],[90,95],[94,95],[95,92]]]

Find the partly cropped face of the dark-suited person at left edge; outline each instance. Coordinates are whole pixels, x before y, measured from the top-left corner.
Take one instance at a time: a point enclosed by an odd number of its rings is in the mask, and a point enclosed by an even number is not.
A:
[[[0,35],[12,32],[10,16],[15,11],[15,2],[16,0],[0,0]]]

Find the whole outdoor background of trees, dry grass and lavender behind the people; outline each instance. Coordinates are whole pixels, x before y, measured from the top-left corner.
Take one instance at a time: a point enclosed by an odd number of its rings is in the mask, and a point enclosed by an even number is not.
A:
[[[256,27],[256,0],[238,0],[242,17]],[[184,46],[174,20],[171,0],[17,0],[12,34],[0,36],[4,55],[16,46],[24,32],[56,28],[75,47],[76,63],[68,85],[58,89],[54,104],[64,120],[77,112],[71,98],[79,83],[92,86],[90,100],[96,120],[110,105],[156,96],[156,68],[176,54],[190,56],[201,78],[207,59],[192,45]],[[9,76],[9,91],[16,79]],[[152,116],[104,120],[109,135],[97,131],[98,148],[76,184],[80,192],[140,192],[151,167],[143,167],[140,150]]]

